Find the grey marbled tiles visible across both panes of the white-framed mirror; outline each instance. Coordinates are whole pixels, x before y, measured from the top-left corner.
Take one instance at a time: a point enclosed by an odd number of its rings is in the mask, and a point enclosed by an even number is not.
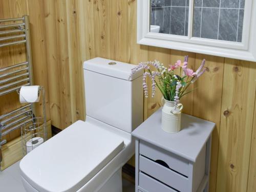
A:
[[[195,0],[193,37],[242,42],[245,0]],[[188,35],[189,0],[151,0],[159,33]]]

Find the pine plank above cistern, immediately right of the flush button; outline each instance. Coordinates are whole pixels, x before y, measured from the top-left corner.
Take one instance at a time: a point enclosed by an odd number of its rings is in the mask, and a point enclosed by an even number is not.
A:
[[[110,1],[111,59],[129,62],[128,1]]]

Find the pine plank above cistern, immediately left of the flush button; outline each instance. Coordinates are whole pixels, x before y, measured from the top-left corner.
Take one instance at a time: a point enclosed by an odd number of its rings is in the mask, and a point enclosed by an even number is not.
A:
[[[94,0],[95,56],[111,58],[110,2]]]

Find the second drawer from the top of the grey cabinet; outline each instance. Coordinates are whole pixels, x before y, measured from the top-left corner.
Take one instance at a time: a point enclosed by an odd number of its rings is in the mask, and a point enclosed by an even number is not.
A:
[[[139,170],[179,191],[187,191],[188,179],[155,161],[139,156]]]

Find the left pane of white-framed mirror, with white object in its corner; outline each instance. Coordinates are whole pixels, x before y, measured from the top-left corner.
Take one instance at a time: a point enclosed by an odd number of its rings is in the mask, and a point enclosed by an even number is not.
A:
[[[151,0],[151,32],[187,36],[189,0]]]

